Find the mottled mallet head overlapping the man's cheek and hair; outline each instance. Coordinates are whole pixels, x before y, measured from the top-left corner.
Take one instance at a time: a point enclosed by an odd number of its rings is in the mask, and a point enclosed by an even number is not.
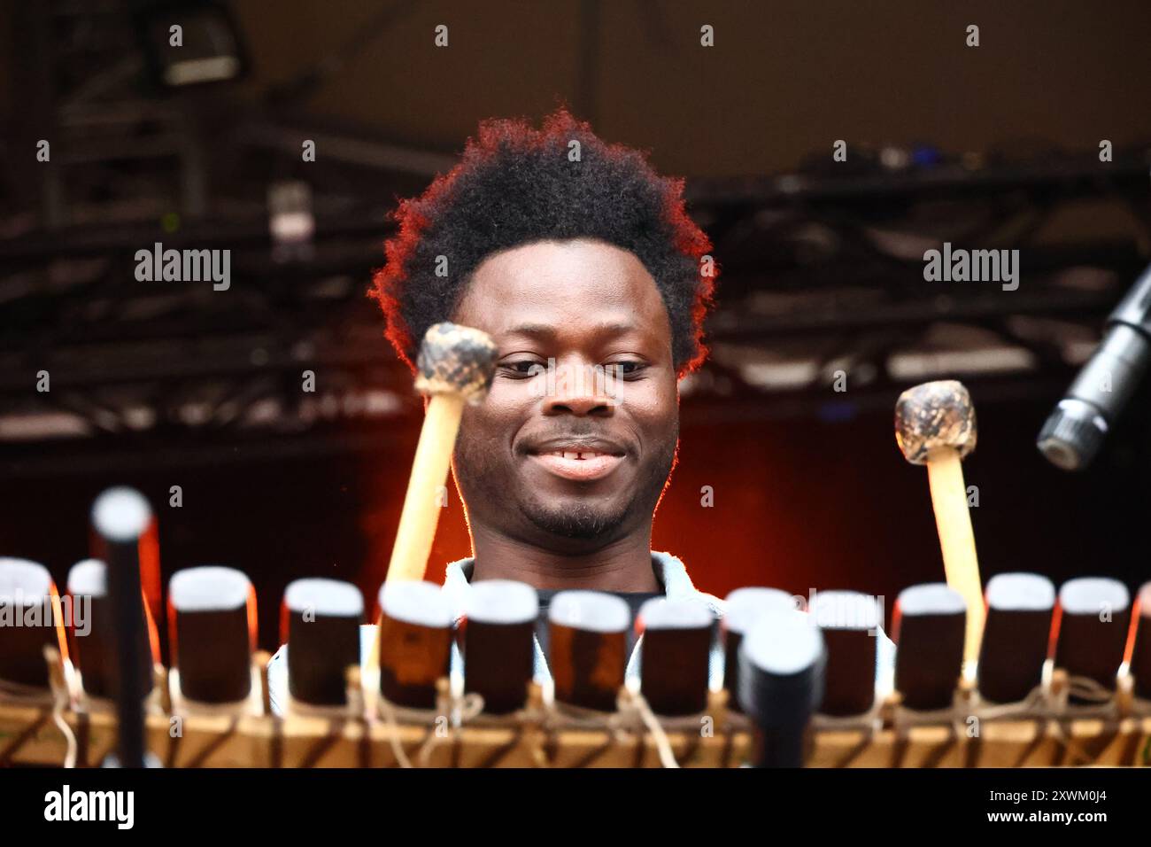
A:
[[[459,324],[433,324],[416,358],[422,394],[459,394],[479,403],[496,372],[497,348],[486,332]]]

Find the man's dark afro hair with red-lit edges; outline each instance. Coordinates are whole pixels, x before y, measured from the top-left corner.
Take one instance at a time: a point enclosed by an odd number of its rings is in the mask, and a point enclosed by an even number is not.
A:
[[[579,156],[570,156],[579,142]],[[660,176],[647,153],[599,138],[561,106],[540,130],[524,120],[482,121],[463,158],[392,213],[396,234],[369,292],[387,338],[414,370],[420,339],[450,320],[472,271],[489,255],[534,241],[596,239],[631,251],[663,296],[677,373],[707,356],[712,305],[708,236],[687,215],[684,181]],[[436,275],[439,256],[449,274]]]

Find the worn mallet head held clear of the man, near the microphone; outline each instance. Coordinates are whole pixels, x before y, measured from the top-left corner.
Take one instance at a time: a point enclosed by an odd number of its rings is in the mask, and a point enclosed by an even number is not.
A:
[[[895,443],[912,464],[951,447],[962,459],[975,449],[975,407],[962,383],[943,379],[908,388],[895,401]]]

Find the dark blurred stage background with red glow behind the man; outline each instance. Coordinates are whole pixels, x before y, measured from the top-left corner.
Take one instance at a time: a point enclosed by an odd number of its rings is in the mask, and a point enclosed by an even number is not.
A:
[[[62,583],[87,554],[92,498],[128,483],[157,507],[165,584],[242,568],[262,646],[295,577],[371,600],[419,426],[365,296],[384,215],[480,119],[538,122],[561,97],[687,177],[723,267],[715,355],[684,386],[655,522],[654,546],[700,587],[852,588],[884,595],[890,620],[900,589],[942,580],[925,472],[892,430],[899,392],[942,377],[978,413],[966,469],[984,578],[1149,575],[1148,390],[1087,474],[1034,445],[1151,262],[1145,2],[2,8],[0,554]],[[135,281],[157,241],[231,249],[231,289]],[[1019,289],[924,282],[943,241],[1020,249]],[[429,578],[467,552],[452,491]]]

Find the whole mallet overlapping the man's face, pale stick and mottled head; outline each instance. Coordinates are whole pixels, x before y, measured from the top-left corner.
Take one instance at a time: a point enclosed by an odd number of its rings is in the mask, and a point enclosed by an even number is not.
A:
[[[448,478],[464,403],[477,404],[487,396],[496,356],[487,333],[468,326],[433,324],[424,334],[416,390],[428,395],[428,404],[384,583],[424,578],[440,521],[439,490]],[[378,641],[372,642],[369,666],[379,665]]]

